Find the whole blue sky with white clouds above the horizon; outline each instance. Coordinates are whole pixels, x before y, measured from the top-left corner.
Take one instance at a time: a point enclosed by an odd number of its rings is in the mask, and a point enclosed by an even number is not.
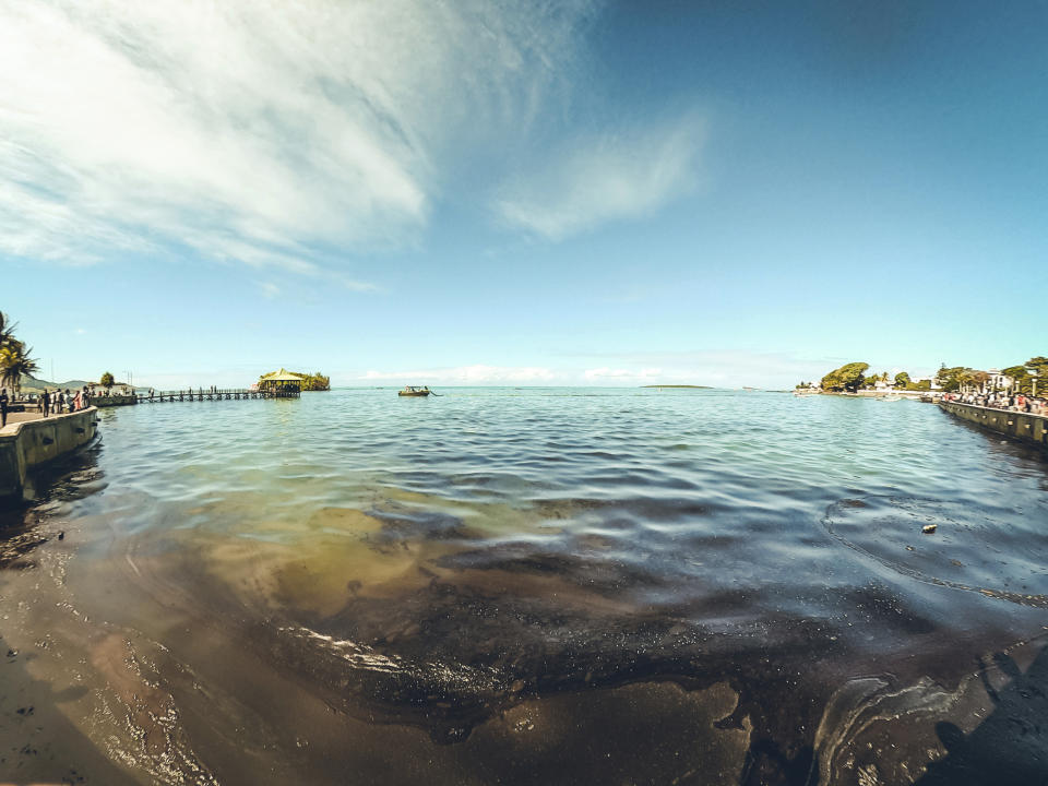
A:
[[[1045,3],[0,0],[46,376],[787,386],[1046,354]]]

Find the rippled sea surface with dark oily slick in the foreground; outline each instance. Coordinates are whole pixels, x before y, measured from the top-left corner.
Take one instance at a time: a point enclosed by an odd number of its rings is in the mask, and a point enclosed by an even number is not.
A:
[[[1048,775],[1035,449],[907,401],[442,392],[100,412],[0,514],[0,781]]]

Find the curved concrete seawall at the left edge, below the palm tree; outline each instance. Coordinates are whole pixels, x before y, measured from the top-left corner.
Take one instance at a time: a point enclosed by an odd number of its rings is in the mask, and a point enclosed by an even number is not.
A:
[[[95,438],[94,407],[0,429],[0,499],[21,495],[28,474]]]

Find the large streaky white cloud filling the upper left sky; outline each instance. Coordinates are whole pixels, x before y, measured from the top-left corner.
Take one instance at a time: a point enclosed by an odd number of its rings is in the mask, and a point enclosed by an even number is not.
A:
[[[340,266],[332,248],[405,242],[453,148],[534,120],[587,13],[0,0],[0,252],[92,263],[178,243],[315,275]]]

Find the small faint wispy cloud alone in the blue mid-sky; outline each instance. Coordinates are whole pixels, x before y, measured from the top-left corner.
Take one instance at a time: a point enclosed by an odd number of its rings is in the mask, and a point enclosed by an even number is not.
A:
[[[505,222],[550,240],[652,213],[698,182],[695,115],[576,140],[504,189]]]

